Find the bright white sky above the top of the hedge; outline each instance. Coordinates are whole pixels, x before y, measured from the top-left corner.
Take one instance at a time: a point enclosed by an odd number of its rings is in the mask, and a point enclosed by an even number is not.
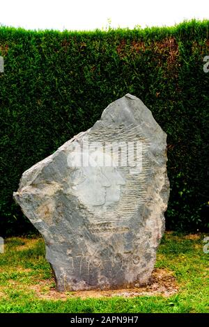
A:
[[[209,19],[208,0],[0,0],[0,24],[25,29],[93,30],[171,26]]]

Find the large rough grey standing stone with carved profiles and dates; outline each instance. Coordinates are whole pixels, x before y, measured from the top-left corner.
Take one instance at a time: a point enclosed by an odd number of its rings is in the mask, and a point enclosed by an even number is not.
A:
[[[59,291],[148,282],[169,198],[166,138],[143,102],[127,94],[91,129],[23,173],[14,198],[45,239]],[[132,160],[125,145],[111,150],[113,142],[129,144]],[[78,166],[78,146],[90,165]]]

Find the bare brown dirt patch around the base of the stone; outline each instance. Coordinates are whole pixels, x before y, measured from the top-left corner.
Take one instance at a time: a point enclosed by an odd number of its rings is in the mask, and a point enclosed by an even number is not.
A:
[[[149,285],[145,287],[134,287],[130,289],[111,289],[111,290],[91,290],[76,292],[57,292],[52,286],[52,280],[40,281],[38,285],[31,285],[38,298],[50,300],[66,300],[67,298],[102,298],[102,297],[133,297],[133,296],[171,296],[178,292],[176,278],[167,269],[155,269],[150,279]]]

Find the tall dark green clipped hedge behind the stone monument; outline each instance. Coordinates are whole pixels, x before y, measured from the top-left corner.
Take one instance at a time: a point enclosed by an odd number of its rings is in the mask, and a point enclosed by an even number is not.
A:
[[[0,234],[32,229],[15,205],[24,170],[132,93],[168,138],[167,228],[208,227],[209,21],[171,28],[25,31],[0,27]]]

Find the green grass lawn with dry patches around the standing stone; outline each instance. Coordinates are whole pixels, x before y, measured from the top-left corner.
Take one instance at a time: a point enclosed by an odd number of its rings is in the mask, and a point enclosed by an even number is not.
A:
[[[149,287],[138,293],[101,292],[100,297],[56,292],[41,238],[6,239],[0,254],[0,312],[209,312],[205,236],[167,232]]]

